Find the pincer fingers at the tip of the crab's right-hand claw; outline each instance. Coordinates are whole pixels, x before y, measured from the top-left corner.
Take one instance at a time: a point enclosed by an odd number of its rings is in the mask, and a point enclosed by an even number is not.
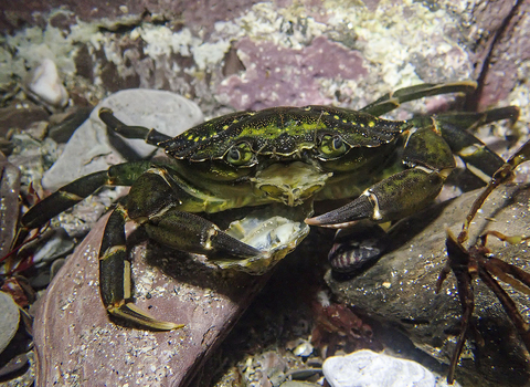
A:
[[[346,206],[318,217],[308,218],[305,222],[309,226],[326,227],[329,229],[347,229],[356,224],[360,219],[372,218],[373,213],[374,203],[372,203],[370,199],[370,194],[363,194]]]

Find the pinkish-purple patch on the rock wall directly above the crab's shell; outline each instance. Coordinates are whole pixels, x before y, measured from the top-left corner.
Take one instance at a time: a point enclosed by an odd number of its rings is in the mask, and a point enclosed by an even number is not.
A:
[[[248,38],[235,48],[246,70],[225,79],[218,92],[240,111],[327,105],[332,101],[320,94],[319,80],[357,80],[368,74],[360,52],[325,36],[316,38],[301,50],[268,41],[256,43]]]

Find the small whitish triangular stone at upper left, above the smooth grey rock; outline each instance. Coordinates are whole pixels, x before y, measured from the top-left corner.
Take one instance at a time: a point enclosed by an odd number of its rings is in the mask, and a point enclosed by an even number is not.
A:
[[[28,88],[39,100],[54,107],[64,107],[68,103],[68,92],[63,86],[55,62],[51,59],[44,59],[33,71]]]

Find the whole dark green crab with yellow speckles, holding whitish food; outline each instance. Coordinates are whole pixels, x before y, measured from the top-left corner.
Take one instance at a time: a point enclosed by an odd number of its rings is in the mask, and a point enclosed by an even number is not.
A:
[[[115,165],[62,187],[22,217],[15,244],[28,230],[43,227],[100,187],[131,186],[113,210],[99,250],[103,303],[109,314],[142,327],[178,328],[181,325],[158,321],[131,302],[127,221],[142,226],[162,244],[205,254],[221,268],[261,274],[294,249],[309,226],[389,222],[425,208],[454,169],[454,153],[491,176],[502,159],[465,130],[517,119],[516,107],[409,121],[379,117],[403,102],[475,87],[475,82],[405,87],[360,111],[305,106],[237,112],[174,138],[128,126],[102,108],[99,117],[109,128],[163,148],[170,159]],[[314,201],[351,198],[312,217]],[[208,219],[247,207],[258,210],[227,229]]]

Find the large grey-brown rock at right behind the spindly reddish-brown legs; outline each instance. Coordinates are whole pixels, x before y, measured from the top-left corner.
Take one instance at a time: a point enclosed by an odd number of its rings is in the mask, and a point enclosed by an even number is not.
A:
[[[398,224],[391,232],[390,252],[359,275],[349,279],[330,272],[326,275],[339,299],[384,322],[389,332],[386,344],[393,351],[402,351],[403,342],[412,341],[423,351],[425,364],[434,367],[448,364],[462,314],[453,274],[442,291],[435,293],[446,260],[445,229],[458,233],[477,195],[477,191],[465,194]],[[474,242],[486,229],[510,236],[528,233],[529,198],[530,189],[524,186],[504,186],[494,191],[471,223],[469,241]],[[488,247],[499,259],[529,271],[526,243],[505,247],[491,237]],[[456,379],[463,385],[527,384],[528,353],[512,323],[481,281],[474,286],[476,325],[485,344],[478,351],[468,342],[465,349],[468,355],[460,359]],[[528,321],[528,296],[509,286],[505,289]],[[409,338],[399,338],[403,332]]]

